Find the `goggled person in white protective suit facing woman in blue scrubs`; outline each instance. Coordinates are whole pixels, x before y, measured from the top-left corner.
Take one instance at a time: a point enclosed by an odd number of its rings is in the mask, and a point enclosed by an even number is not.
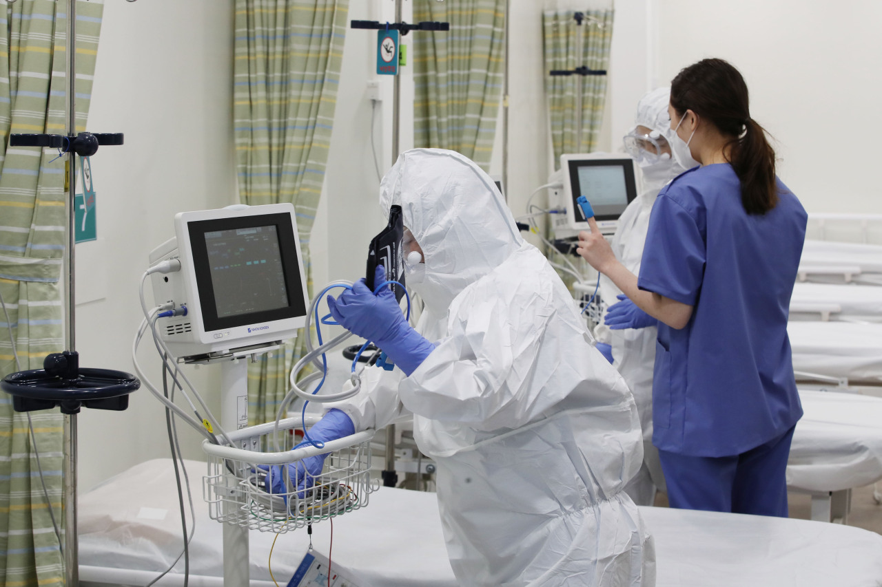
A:
[[[669,87],[647,93],[638,103],[634,126],[624,136],[625,150],[642,172],[643,189],[618,219],[612,249],[617,259],[635,275],[640,271],[655,197],[677,175],[698,165],[691,158],[689,148],[670,129],[669,100]],[[601,278],[601,297],[609,310],[595,334],[598,340],[612,346],[613,365],[634,394],[643,428],[644,462],[625,491],[638,505],[653,505],[655,487],[664,488],[658,449],[652,442],[657,321],[637,308],[605,275]]]

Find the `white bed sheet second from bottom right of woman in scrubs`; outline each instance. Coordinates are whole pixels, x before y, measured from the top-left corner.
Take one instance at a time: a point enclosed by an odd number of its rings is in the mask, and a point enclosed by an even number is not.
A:
[[[854,381],[882,381],[882,327],[847,322],[790,322],[793,369]]]

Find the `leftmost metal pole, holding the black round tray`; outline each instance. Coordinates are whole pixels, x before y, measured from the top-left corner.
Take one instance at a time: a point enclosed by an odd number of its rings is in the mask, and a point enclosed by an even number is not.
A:
[[[67,0],[67,35],[64,50],[67,53],[67,123],[65,130],[68,137],[77,134],[77,6],[76,0]],[[76,350],[76,323],[74,306],[76,297],[73,288],[74,255],[73,247],[76,239],[74,227],[75,206],[73,202],[77,185],[77,154],[67,155],[67,191],[64,194],[64,206],[67,210],[67,226],[64,227],[67,247],[64,249],[64,261],[67,266],[67,286],[64,295],[67,298],[67,312],[64,320],[67,349]],[[79,562],[77,539],[77,415],[64,416],[64,585],[79,586]]]

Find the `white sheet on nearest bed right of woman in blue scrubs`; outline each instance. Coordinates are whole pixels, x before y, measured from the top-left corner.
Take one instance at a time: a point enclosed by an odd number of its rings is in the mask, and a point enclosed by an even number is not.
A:
[[[841,491],[882,479],[882,399],[814,390],[799,398],[804,416],[790,445],[789,487]]]

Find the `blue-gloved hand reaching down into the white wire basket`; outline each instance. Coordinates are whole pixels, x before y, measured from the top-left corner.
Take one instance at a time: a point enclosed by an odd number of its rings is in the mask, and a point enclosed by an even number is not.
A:
[[[354,435],[355,425],[346,412],[333,408],[328,410],[325,416],[310,428],[308,434],[313,442],[331,442],[345,436]],[[294,448],[299,449],[304,446],[310,446],[310,442],[303,441]],[[303,498],[303,490],[312,487],[313,479],[322,473],[327,456],[328,453],[325,453],[284,465],[288,467],[291,484],[299,492],[297,497]],[[289,492],[288,487],[285,485],[285,475],[282,472],[281,465],[270,467],[260,464],[258,468],[266,472],[266,491],[271,494],[287,494]]]

